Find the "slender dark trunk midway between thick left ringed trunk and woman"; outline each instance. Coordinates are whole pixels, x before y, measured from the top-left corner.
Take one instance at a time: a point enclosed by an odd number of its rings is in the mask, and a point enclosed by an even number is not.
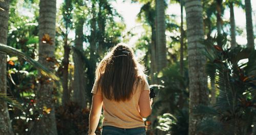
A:
[[[64,58],[62,61],[63,66],[63,76],[62,76],[62,87],[63,87],[63,93],[62,93],[62,104],[66,104],[70,101],[70,91],[69,91],[69,54],[70,54],[70,47],[68,45],[68,33],[65,35],[64,39]]]

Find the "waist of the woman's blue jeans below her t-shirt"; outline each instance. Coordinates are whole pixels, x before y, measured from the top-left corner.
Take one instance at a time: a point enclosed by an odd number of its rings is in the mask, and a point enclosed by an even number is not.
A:
[[[146,135],[145,127],[119,128],[114,126],[103,126],[102,135]]]

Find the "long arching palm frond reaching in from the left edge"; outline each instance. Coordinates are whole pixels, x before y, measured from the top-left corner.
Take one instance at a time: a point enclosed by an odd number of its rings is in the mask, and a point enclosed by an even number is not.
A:
[[[0,43],[0,51],[10,54],[10,55],[15,55],[20,58],[23,58],[24,60],[26,60],[27,62],[32,64],[37,70],[39,70],[42,75],[50,77],[54,80],[59,80],[59,78],[55,74],[53,74],[49,69],[47,69],[45,66],[41,65],[37,61],[35,61],[32,58],[30,58],[29,56],[27,56],[25,53],[20,52],[19,50],[15,49],[15,48],[12,48],[12,47],[9,47],[9,46],[6,46],[6,45]]]

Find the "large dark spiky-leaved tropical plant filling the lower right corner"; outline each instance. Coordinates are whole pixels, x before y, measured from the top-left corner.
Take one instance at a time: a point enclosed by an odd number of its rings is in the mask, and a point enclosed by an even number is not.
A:
[[[206,71],[216,71],[219,94],[214,106],[195,109],[197,114],[205,115],[198,129],[207,134],[247,134],[256,115],[256,51],[227,48],[225,34],[203,42],[211,65]]]

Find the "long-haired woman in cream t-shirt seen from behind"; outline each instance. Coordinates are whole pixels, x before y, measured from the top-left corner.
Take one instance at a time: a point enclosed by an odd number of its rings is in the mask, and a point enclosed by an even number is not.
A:
[[[104,134],[146,134],[142,118],[151,115],[150,87],[144,67],[124,43],[112,48],[96,69],[89,134],[95,134],[103,105]]]

